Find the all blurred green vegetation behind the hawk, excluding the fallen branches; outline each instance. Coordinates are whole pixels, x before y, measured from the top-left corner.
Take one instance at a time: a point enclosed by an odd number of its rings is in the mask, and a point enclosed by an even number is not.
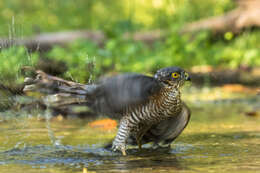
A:
[[[1,0],[0,37],[25,38],[46,32],[102,31],[102,46],[77,40],[47,52],[12,46],[0,52],[0,79],[22,82],[21,66],[51,62],[56,75],[79,82],[118,72],[151,73],[164,66],[210,65],[235,69],[260,66],[260,31],[180,34],[187,23],[219,16],[232,0]],[[145,44],[125,33],[160,30],[166,39]],[[56,66],[55,66],[56,64]],[[61,68],[61,69],[59,69]]]

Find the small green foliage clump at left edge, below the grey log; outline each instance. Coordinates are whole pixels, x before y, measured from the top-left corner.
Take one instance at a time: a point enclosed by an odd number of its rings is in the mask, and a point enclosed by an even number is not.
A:
[[[37,54],[28,53],[24,47],[11,47],[1,50],[0,80],[4,83],[22,82],[21,67],[33,66],[37,59]]]

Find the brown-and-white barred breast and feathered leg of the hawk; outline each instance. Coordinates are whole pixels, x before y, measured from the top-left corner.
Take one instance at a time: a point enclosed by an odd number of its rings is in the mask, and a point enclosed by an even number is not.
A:
[[[177,117],[182,107],[178,89],[162,88],[157,94],[151,96],[147,103],[126,110],[114,144],[126,143],[130,135],[132,138],[138,138],[138,135],[145,136],[154,124]]]

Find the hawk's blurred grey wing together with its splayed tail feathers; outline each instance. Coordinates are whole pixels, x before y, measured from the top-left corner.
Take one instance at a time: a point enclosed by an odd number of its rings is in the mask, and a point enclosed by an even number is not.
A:
[[[146,102],[160,90],[153,77],[124,74],[109,77],[97,84],[84,85],[36,71],[36,78],[27,78],[25,92],[39,92],[50,107],[73,104],[87,105],[95,112],[120,118],[126,107]]]

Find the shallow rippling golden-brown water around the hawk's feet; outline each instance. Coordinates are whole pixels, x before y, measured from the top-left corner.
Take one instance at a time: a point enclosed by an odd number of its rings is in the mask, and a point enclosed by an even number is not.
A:
[[[260,116],[245,115],[259,96],[184,99],[192,118],[171,148],[131,147],[127,156],[104,149],[116,129],[93,120],[0,113],[0,172],[260,172]]]

